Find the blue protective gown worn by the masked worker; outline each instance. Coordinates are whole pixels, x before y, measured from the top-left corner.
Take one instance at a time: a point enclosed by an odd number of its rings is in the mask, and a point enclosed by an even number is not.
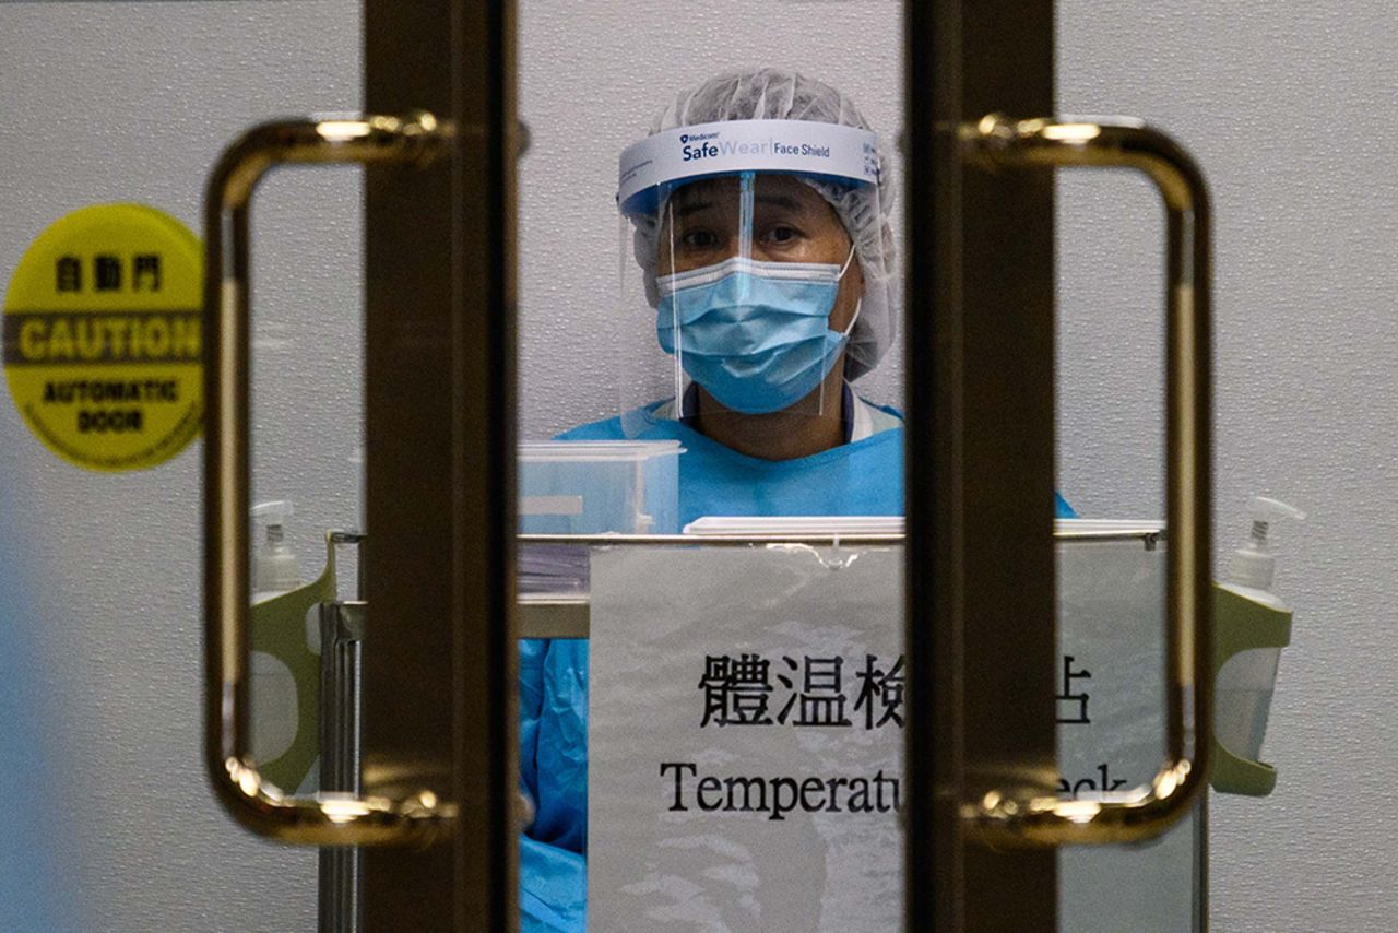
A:
[[[849,396],[846,397],[849,407]],[[761,460],[656,417],[660,403],[628,418],[575,428],[562,441],[679,441],[679,522],[705,515],[902,515],[903,429],[896,427],[795,460]],[[892,408],[884,413],[900,417]],[[1055,495],[1060,518],[1072,518]],[[534,825],[520,843],[520,930],[586,927],[587,642],[520,643],[520,782]]]

